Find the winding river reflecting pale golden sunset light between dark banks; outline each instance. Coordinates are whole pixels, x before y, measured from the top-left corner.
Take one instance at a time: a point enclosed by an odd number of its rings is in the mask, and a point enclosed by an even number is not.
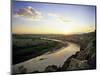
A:
[[[55,40],[55,39],[46,39],[46,40],[61,42],[61,40]],[[64,61],[68,59],[68,57],[72,56],[73,54],[75,54],[77,51],[80,50],[80,46],[75,43],[67,42],[67,44],[68,46],[58,49],[56,52],[53,53],[47,52],[36,58],[32,58],[25,62],[13,65],[13,72],[19,73],[18,67],[20,66],[24,66],[24,68],[27,69],[27,72],[34,72],[34,71],[42,72],[49,65],[56,65],[58,67],[59,66],[61,67],[64,64]]]

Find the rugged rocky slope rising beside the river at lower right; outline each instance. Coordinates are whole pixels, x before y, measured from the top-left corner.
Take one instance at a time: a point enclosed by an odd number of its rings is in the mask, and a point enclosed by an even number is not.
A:
[[[62,70],[84,70],[96,68],[96,40],[90,40],[86,48],[65,61]]]

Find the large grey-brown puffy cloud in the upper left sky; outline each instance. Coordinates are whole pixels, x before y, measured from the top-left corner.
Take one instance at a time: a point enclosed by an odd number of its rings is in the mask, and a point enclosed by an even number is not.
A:
[[[42,17],[41,13],[33,9],[31,6],[17,10],[14,15],[16,17],[23,17],[32,20],[37,20]]]

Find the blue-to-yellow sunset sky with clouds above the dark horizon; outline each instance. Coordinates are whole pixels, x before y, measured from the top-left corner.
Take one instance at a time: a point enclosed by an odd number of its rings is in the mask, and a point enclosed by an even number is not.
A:
[[[81,34],[95,30],[96,7],[13,1],[12,33]]]

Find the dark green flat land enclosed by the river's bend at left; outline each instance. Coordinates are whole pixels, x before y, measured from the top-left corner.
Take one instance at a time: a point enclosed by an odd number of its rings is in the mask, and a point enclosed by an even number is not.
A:
[[[47,52],[53,53],[68,45],[55,39],[34,38],[29,35],[16,35],[13,37],[13,64],[24,62]]]

